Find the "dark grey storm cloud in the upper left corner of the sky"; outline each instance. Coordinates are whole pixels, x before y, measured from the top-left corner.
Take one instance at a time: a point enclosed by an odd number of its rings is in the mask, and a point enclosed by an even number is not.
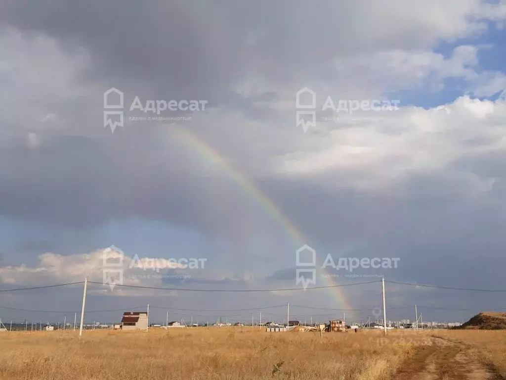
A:
[[[87,49],[87,77],[116,87],[155,88],[153,98],[209,99],[234,77],[234,57],[224,54],[231,37],[217,23],[203,28],[183,3],[150,0],[4,3],[4,23],[56,38],[65,49]],[[158,91],[156,91],[158,87]]]

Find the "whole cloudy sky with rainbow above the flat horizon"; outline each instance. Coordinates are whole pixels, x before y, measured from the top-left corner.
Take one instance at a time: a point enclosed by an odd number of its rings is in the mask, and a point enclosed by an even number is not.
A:
[[[504,0],[4,0],[0,317],[72,320],[86,277],[85,323],[364,321],[382,277],[389,320],[506,310],[399,284],[506,290],[505,21]]]

